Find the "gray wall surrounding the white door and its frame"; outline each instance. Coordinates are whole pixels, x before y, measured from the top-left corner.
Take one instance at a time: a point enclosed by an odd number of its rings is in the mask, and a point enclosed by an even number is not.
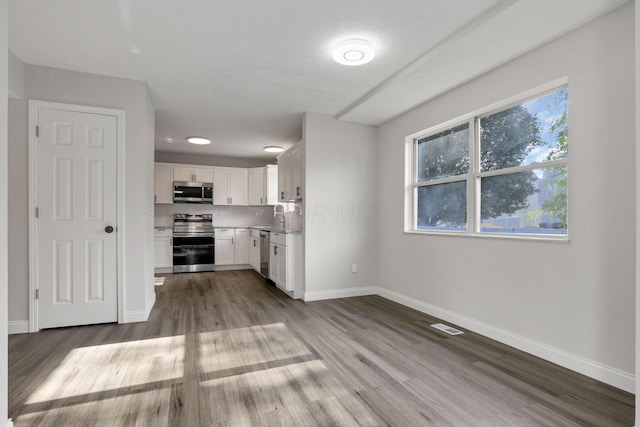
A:
[[[141,320],[151,310],[153,289],[153,143],[155,110],[147,85],[135,80],[97,76],[34,65],[24,66],[24,94],[26,99],[89,105],[125,111],[125,321]],[[24,101],[11,103],[12,117],[24,114]],[[16,192],[27,193],[28,169],[21,168],[27,152],[28,139],[23,122],[11,123],[11,153],[16,165],[10,177]],[[13,162],[14,157],[11,158]],[[24,219],[28,206],[25,201],[12,202],[10,228],[15,226],[15,248],[24,252]],[[12,233],[14,233],[12,231]],[[14,242],[10,242],[11,249]],[[28,319],[24,301],[27,300],[26,271],[12,271],[10,295],[12,322]],[[15,307],[13,303],[15,302]]]

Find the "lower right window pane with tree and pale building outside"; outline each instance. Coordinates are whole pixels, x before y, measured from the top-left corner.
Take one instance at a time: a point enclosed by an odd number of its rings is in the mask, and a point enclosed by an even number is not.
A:
[[[567,234],[567,167],[481,179],[483,233]]]

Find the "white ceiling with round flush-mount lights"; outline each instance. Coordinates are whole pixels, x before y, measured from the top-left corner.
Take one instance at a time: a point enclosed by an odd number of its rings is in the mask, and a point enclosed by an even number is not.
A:
[[[262,147],[301,138],[305,111],[383,123],[628,1],[10,0],[9,46],[147,82],[157,151],[268,159]],[[375,59],[333,62],[354,37]]]

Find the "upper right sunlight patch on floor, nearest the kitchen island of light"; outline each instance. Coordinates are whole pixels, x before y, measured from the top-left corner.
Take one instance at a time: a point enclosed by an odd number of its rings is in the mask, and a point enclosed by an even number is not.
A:
[[[283,323],[199,334],[200,369],[216,372],[307,356],[309,349]]]

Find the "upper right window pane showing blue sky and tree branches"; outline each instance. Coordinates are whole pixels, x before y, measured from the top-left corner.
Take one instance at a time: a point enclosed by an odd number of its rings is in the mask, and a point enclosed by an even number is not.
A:
[[[480,169],[568,156],[566,88],[480,119]]]

